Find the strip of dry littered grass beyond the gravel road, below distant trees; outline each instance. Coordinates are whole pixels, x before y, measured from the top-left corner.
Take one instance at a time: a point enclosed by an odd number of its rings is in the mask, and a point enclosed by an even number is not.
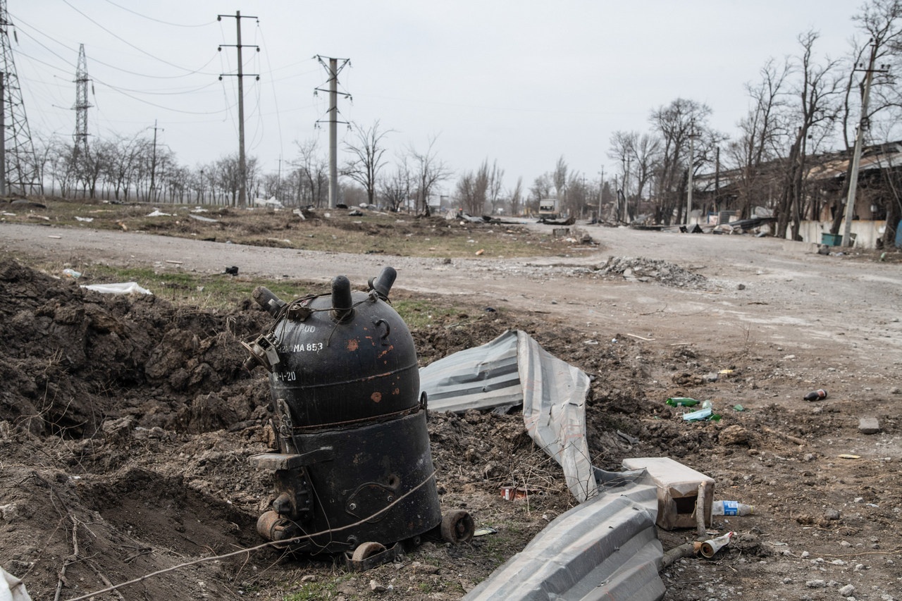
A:
[[[552,238],[520,225],[474,224],[444,217],[378,211],[351,216],[348,209],[318,209],[307,212],[305,218],[288,208],[198,208],[194,205],[116,205],[96,200],[32,200],[32,205],[0,205],[3,213],[0,218],[11,223],[148,232],[224,243],[341,250],[354,254],[518,257],[566,254],[572,247],[564,239]],[[165,215],[150,217],[154,209]]]

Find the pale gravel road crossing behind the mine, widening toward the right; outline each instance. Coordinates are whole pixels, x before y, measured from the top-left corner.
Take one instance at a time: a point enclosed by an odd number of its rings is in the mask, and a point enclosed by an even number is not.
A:
[[[545,226],[535,226],[545,227]],[[510,260],[320,253],[202,242],[133,232],[0,224],[5,256],[155,265],[158,269],[364,284],[384,265],[396,289],[459,296],[486,306],[547,313],[584,328],[718,347],[750,337],[816,349],[862,365],[899,365],[902,269],[873,254],[821,255],[813,245],[752,236],[584,227],[599,244],[579,256]],[[643,257],[704,275],[704,288],[602,277],[608,257]],[[178,261],[180,264],[167,263]]]

